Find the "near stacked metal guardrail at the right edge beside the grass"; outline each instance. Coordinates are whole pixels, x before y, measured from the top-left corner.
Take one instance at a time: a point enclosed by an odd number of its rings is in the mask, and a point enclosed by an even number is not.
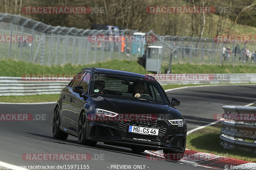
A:
[[[222,109],[225,112],[221,121],[221,145],[256,153],[256,107],[225,105]]]

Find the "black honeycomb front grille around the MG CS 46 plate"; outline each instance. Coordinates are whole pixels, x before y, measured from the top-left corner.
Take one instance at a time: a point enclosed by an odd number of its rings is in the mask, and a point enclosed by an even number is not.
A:
[[[168,129],[168,124],[164,120],[151,120],[150,122],[143,122],[143,121],[123,121],[119,122],[121,136],[122,138],[126,139],[133,139],[133,138],[142,138],[151,140],[151,142],[162,142],[164,139],[164,135]],[[129,126],[139,126],[139,127],[148,127],[148,128],[155,128],[159,129],[158,136],[152,135],[143,135],[143,134],[136,134],[128,132]],[[148,142],[148,141],[147,141]]]

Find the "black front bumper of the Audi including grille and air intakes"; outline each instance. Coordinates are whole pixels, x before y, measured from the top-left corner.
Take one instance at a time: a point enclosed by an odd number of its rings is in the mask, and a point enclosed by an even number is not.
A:
[[[129,125],[157,128],[158,136],[128,132]],[[108,145],[129,148],[143,147],[146,150],[172,150],[183,152],[186,147],[187,124],[183,127],[172,125],[163,119],[156,119],[151,124],[138,121],[94,121],[90,123],[90,137],[94,141]]]

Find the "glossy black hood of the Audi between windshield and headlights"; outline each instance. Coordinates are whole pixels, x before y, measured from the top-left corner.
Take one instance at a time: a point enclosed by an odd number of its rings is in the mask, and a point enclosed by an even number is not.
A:
[[[97,103],[94,105],[95,108],[112,111],[118,114],[151,114],[154,117],[167,120],[182,118],[180,111],[164,103],[106,95],[92,95],[91,97],[92,100]]]

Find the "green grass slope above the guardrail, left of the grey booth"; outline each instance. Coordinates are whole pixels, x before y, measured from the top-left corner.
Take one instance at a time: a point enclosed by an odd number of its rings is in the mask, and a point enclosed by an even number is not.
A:
[[[63,66],[40,66],[16,60],[0,60],[0,76],[21,77],[23,74],[77,74],[86,67],[103,67],[118,70],[126,70],[140,74],[149,74],[147,70],[136,61],[130,60],[112,60],[104,63],[95,63],[89,65],[71,65]]]

